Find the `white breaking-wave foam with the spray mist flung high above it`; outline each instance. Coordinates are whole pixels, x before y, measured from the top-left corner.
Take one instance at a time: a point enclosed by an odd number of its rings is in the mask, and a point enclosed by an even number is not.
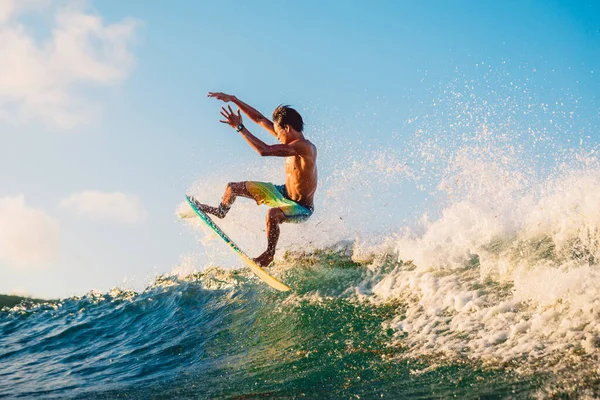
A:
[[[370,291],[372,301],[403,304],[384,328],[407,357],[594,376],[597,145],[569,130],[568,102],[549,110],[518,93],[506,101],[472,88],[444,93],[408,144],[412,176],[435,201],[378,243],[355,242],[353,258],[373,270],[386,270],[386,256],[397,260]]]

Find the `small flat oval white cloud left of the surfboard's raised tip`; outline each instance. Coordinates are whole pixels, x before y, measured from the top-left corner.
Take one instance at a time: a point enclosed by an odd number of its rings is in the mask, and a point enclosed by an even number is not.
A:
[[[72,194],[60,205],[94,221],[135,223],[143,220],[146,214],[137,197],[121,192],[86,190]]]

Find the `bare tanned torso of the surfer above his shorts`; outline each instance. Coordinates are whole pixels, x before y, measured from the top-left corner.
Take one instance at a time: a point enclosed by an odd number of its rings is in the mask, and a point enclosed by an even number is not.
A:
[[[285,159],[285,187],[290,199],[312,208],[318,182],[317,148],[308,140],[303,142],[306,143],[304,155]]]

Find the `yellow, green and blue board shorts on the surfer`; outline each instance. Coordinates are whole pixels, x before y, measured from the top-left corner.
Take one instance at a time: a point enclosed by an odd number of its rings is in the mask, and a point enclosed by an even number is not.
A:
[[[285,185],[273,185],[269,182],[246,182],[246,189],[256,204],[265,204],[269,207],[279,208],[287,217],[285,222],[304,222],[310,218],[314,209],[304,207],[288,197]]]

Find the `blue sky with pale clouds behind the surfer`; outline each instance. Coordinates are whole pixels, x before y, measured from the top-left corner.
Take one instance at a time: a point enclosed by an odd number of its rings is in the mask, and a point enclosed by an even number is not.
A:
[[[430,116],[452,82],[476,81],[483,97],[526,83],[529,99],[576,112],[565,138],[595,141],[599,27],[593,1],[0,1],[0,293],[143,287],[190,254],[203,267],[215,244],[177,221],[183,195],[210,187],[214,201],[263,165],[279,176],[219,124],[208,91],[267,115],[300,110],[321,148],[323,204],[351,162],[373,173],[372,154],[387,152],[388,168],[402,165],[407,121]],[[315,221],[343,214],[356,233],[423,211],[414,183],[386,179],[383,200],[321,207]],[[396,206],[381,218],[386,198]]]

